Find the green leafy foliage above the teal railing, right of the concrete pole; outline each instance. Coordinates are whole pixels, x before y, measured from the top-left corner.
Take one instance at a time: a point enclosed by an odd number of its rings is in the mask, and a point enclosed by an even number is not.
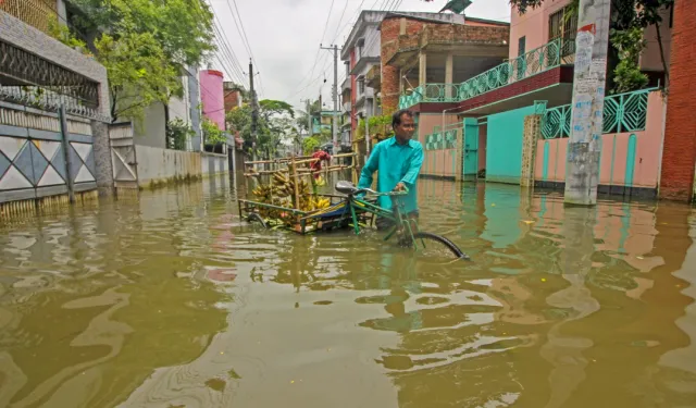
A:
[[[648,76],[641,72],[638,59],[646,46],[643,28],[634,26],[624,30],[611,29],[610,38],[619,51],[619,64],[613,72],[617,94],[641,89],[648,84]]]

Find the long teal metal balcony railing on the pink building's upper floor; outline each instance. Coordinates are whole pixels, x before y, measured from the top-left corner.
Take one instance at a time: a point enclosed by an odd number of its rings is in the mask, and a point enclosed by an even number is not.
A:
[[[540,74],[561,64],[561,39],[556,39],[461,84],[425,84],[399,98],[399,109],[421,102],[460,102]]]

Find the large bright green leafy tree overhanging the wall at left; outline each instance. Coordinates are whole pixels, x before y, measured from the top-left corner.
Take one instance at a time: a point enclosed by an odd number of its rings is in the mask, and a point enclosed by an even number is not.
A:
[[[215,50],[213,14],[202,0],[72,0],[71,24],[102,33],[87,46],[109,73],[112,120],[138,119],[181,95],[181,70]]]

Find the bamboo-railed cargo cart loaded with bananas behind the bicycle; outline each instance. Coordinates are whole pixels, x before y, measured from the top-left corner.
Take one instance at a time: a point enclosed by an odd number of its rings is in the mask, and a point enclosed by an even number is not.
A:
[[[338,159],[343,158],[352,158],[351,164],[338,164]],[[238,200],[239,218],[247,221],[262,221],[264,226],[282,227],[295,231],[299,234],[310,234],[313,232],[331,231],[350,226],[352,219],[350,217],[350,211],[345,205],[345,196],[335,194],[318,194],[313,176],[316,173],[328,175],[330,173],[349,170],[352,182],[357,184],[357,152],[332,156],[330,164],[320,171],[311,169],[310,165],[319,161],[319,159],[313,159],[311,157],[290,157],[275,160],[246,161],[246,169],[244,173],[245,177],[254,178],[259,184],[263,184],[261,178],[263,176],[268,176],[269,185],[271,186],[271,202],[240,199]],[[257,169],[257,166],[262,166],[262,169]],[[283,177],[287,177],[287,180],[291,181],[294,184],[294,191],[291,191],[291,207],[274,202],[274,174],[282,174]],[[301,197],[298,186],[303,180],[311,183],[313,190],[310,191],[310,194],[313,197],[328,200],[328,211],[326,209],[313,211],[303,211],[300,209]],[[362,222],[369,221],[366,214],[359,215]]]

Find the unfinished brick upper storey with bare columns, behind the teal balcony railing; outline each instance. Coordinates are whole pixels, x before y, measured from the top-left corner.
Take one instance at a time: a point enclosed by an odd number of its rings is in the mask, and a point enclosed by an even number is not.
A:
[[[510,27],[458,14],[389,13],[381,34],[382,106],[390,113],[408,88],[461,83],[502,62]]]

